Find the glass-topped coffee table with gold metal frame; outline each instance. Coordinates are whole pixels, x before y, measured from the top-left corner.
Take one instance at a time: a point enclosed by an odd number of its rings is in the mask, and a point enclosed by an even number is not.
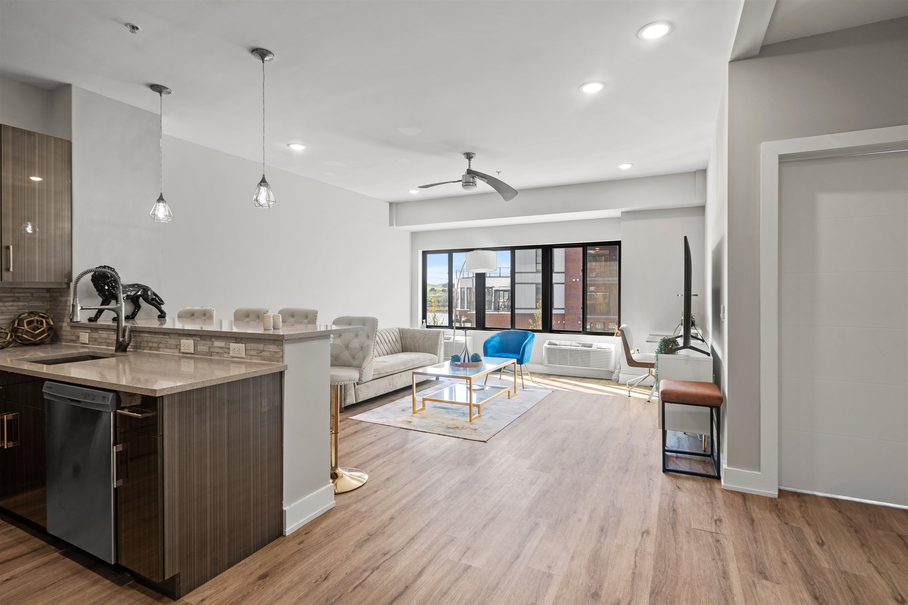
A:
[[[482,366],[455,367],[451,366],[451,362],[446,361],[435,366],[420,367],[418,370],[413,370],[413,414],[426,409],[427,401],[434,401],[439,404],[467,405],[469,407],[469,422],[473,422],[482,415],[482,406],[488,404],[495,397],[507,393],[508,399],[511,398],[510,386],[474,386],[473,381],[479,382],[479,378],[488,376],[491,372],[507,366],[514,366],[514,395],[517,395],[517,359],[483,357]],[[416,376],[454,378],[463,382],[444,386],[428,395],[421,395],[422,407],[417,407]],[[477,408],[475,416],[473,415],[473,407]]]

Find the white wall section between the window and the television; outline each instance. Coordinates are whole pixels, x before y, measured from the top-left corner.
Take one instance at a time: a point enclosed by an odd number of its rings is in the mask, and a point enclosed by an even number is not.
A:
[[[704,323],[703,206],[621,213],[621,323],[634,346],[654,353],[649,334],[671,334],[684,308],[684,237],[693,263],[691,313]],[[701,328],[702,329],[702,328]]]

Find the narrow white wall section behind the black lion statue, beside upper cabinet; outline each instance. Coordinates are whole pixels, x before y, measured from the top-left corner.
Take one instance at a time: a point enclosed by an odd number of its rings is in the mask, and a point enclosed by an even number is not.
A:
[[[73,274],[110,265],[125,283],[145,284],[167,301],[161,253],[166,226],[148,217],[160,189],[158,115],[71,88]],[[84,305],[97,304],[88,278],[79,286],[79,299]],[[132,311],[131,305],[126,307]],[[171,305],[165,308],[173,310]],[[156,316],[147,305],[139,315]]]

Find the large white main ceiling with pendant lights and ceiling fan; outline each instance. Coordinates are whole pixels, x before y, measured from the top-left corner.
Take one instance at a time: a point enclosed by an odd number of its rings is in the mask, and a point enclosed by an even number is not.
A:
[[[0,73],[152,112],[146,86],[163,83],[165,133],[260,160],[261,63],[249,51],[263,46],[276,54],[268,163],[413,200],[407,190],[459,178],[463,151],[518,190],[704,168],[740,10],[740,0],[4,0]],[[675,29],[637,38],[653,21]],[[607,89],[577,91],[592,80]],[[295,141],[309,149],[289,150]],[[626,161],[634,168],[618,170]]]

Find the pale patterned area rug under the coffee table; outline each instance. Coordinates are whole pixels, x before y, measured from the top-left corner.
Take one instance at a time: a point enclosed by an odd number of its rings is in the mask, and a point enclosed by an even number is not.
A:
[[[462,384],[463,381],[441,380],[418,391],[416,406],[422,405],[421,397],[423,395],[429,395],[433,391],[456,383]],[[489,383],[498,385],[498,379],[492,378]],[[413,400],[409,394],[390,404],[381,405],[351,417],[353,420],[409,428],[412,431],[423,433],[445,434],[449,437],[460,437],[473,441],[489,441],[498,431],[517,420],[520,415],[533,405],[537,405],[549,393],[551,391],[548,389],[531,385],[528,385],[528,388],[518,388],[517,395],[511,395],[510,399],[508,399],[508,395],[500,395],[483,405],[482,416],[473,422],[469,422],[469,408],[466,405],[427,401],[426,409],[413,414]],[[475,408],[473,414],[476,414]]]

